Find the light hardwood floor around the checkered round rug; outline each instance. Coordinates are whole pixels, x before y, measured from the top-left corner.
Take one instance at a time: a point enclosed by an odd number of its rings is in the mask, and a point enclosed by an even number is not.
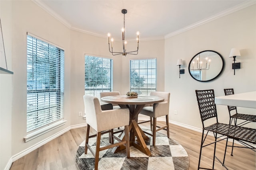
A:
[[[158,122],[159,125],[164,125]],[[140,127],[148,128],[149,124],[140,124]],[[161,130],[161,133],[166,131]],[[80,143],[85,140],[86,127],[71,129],[60,137],[53,139],[42,147],[30,152],[13,162],[10,170],[76,170],[75,155]],[[170,138],[180,143],[188,153],[190,159],[189,170],[196,170],[201,143],[201,133],[170,124]],[[207,141],[214,140],[213,137]],[[223,158],[225,142],[217,143],[216,153]],[[212,167],[213,146],[203,149],[201,165]],[[256,170],[256,154],[250,149],[235,148],[234,156],[230,156],[229,147],[226,154],[225,165],[230,170]],[[215,161],[214,169],[225,170],[218,161]]]

